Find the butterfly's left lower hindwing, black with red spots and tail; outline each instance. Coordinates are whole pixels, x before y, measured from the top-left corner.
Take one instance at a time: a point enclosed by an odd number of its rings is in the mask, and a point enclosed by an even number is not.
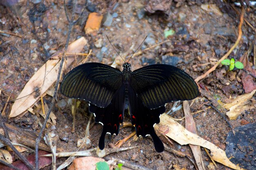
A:
[[[95,122],[103,125],[99,148],[104,149],[106,133],[118,135],[119,126],[123,123],[125,106],[124,85],[115,93],[110,104],[106,108],[100,108],[89,104],[89,111],[94,114]]]

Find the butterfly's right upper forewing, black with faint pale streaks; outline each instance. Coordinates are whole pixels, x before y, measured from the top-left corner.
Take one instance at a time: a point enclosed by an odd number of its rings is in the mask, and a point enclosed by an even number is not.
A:
[[[130,84],[149,109],[199,95],[198,86],[190,75],[167,64],[153,64],[133,71]]]

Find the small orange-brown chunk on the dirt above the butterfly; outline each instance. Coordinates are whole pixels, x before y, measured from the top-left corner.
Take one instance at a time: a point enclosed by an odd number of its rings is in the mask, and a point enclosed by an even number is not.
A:
[[[95,31],[98,31],[101,26],[101,20],[103,18],[103,15],[92,12],[89,14],[88,19],[85,24],[85,34],[90,34]]]

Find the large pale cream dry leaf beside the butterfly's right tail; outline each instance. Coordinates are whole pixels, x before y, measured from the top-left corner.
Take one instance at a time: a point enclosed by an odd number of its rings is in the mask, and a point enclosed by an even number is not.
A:
[[[244,170],[243,168],[240,168],[239,166],[229,161],[229,158],[226,156],[224,150],[220,149],[218,146],[212,144],[211,142],[202,139],[198,135],[189,132],[165,113],[161,115],[160,123],[155,125],[155,128],[156,130],[161,129],[166,136],[170,137],[180,145],[192,144],[202,146],[211,150],[212,159],[214,161],[222,163],[223,165],[235,170]]]

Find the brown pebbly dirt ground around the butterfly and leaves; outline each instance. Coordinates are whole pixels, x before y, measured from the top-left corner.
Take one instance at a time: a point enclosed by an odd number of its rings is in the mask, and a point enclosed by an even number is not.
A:
[[[14,1],[13,1],[14,2]],[[68,31],[68,22],[62,0],[44,0],[36,4],[20,0],[13,6],[0,6],[0,30],[21,35],[21,37],[0,33],[0,102],[6,102],[8,96],[10,100],[16,99],[25,84],[42,66],[50,55],[56,50],[62,49],[65,45]],[[2,1],[2,3],[7,3]],[[82,10],[84,0],[79,0],[76,6],[76,18]],[[167,2],[166,2],[167,3]],[[203,9],[202,4],[214,4],[214,7]],[[70,14],[72,2],[67,2],[67,11]],[[152,12],[155,5],[150,6],[146,0],[91,0],[87,9],[83,13],[79,22],[74,25],[70,37],[70,42],[84,36],[88,44],[83,47],[83,53],[92,55],[88,62],[101,62],[111,65],[117,58],[117,67],[122,69],[122,61],[118,54],[108,42],[106,35],[115,46],[120,55],[127,61],[130,55],[139,47],[146,35],[148,38],[142,44],[139,51],[151,47],[155,44],[170,40],[164,44],[144,51],[142,55],[132,57],[130,64],[132,70],[146,66],[148,64],[165,63],[175,65],[191,75],[194,79],[209,70],[227,51],[234,45],[238,36],[238,24],[240,15],[230,7],[220,1],[204,0],[174,0],[170,8],[164,4],[156,12]],[[151,9],[146,10],[146,9]],[[240,7],[236,7],[240,11]],[[256,28],[255,7],[250,7],[245,13],[245,18]],[[162,10],[162,11],[161,11]],[[84,26],[90,12],[104,14],[108,20],[101,24],[101,28],[96,33],[85,34]],[[173,30],[175,33],[165,38],[164,33]],[[238,46],[231,55],[237,61],[249,49],[250,44],[255,43],[256,32],[247,24],[243,24],[243,36]],[[43,45],[43,46],[42,46]],[[43,48],[44,47],[44,48]],[[255,48],[255,46],[254,46]],[[255,49],[254,49],[255,50]],[[249,54],[249,62],[253,64],[255,57],[253,52]],[[255,65],[252,65],[255,69]],[[216,101],[229,103],[232,99],[245,93],[241,71],[227,71],[228,66],[218,66],[208,77],[198,83],[207,94]],[[65,73],[70,71],[68,68]],[[255,78],[253,79],[255,82]],[[49,105],[52,97],[46,95],[44,101]],[[255,95],[250,102],[255,102]],[[203,110],[194,115],[198,135],[207,141],[225,150],[226,137],[230,130],[226,121],[213,108],[206,109],[212,101],[207,96],[200,94],[191,106],[191,112]],[[191,101],[190,101],[191,103]],[[40,104],[40,102],[38,102]],[[214,103],[212,103],[214,105]],[[1,105],[1,110],[4,104]],[[5,117],[11,110],[12,103],[7,104]],[[166,106],[166,111],[172,108],[172,104]],[[227,110],[219,108],[225,114]],[[70,100],[61,94],[57,95],[57,102],[53,113],[56,115],[56,133],[59,136],[57,147],[64,147],[65,151],[75,151],[77,140],[85,135],[85,128],[89,119],[88,104],[82,101],[77,109],[75,132],[72,131],[72,115]],[[184,116],[183,109],[173,113],[172,117],[178,119]],[[22,116],[5,119],[7,124],[12,124],[26,130],[39,131],[40,126],[36,121],[36,115],[27,112]],[[38,117],[43,122],[42,117]],[[92,120],[93,122],[94,120]],[[130,121],[128,113],[124,121]],[[256,121],[256,109],[245,110],[236,120],[229,120],[233,128]],[[178,121],[185,126],[185,121]],[[98,146],[101,135],[101,124],[92,123],[90,128],[89,146],[82,150]],[[117,141],[129,135],[134,128],[122,127],[119,135],[106,138],[107,146],[115,144]],[[167,144],[168,141],[160,137]],[[64,145],[65,144],[65,145]],[[110,145],[109,145],[110,144]],[[132,150],[112,153],[110,157],[128,160],[132,163],[145,166],[154,170],[168,169],[195,169],[193,163],[186,157],[180,157],[171,152],[155,152],[153,141],[150,137],[132,137],[122,147],[139,146]],[[169,147],[184,153],[193,155],[189,146],[181,146],[173,141]],[[202,149],[202,159],[205,167],[209,167],[211,160]],[[58,159],[57,165],[65,159]],[[216,169],[230,169],[217,163]],[[44,169],[50,169],[51,166]],[[214,169],[214,168],[213,168]]]

